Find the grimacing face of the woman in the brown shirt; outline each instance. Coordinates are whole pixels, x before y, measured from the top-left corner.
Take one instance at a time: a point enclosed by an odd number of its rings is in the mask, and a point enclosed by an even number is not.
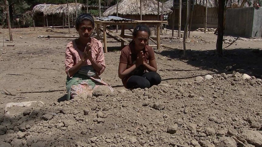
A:
[[[135,45],[137,50],[142,50],[148,45],[149,35],[145,31],[138,31],[136,37],[134,37]]]

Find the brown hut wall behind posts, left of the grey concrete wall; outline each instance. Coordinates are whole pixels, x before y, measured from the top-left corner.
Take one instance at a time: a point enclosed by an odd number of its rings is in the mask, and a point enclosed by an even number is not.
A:
[[[207,14],[207,28],[217,28],[217,13],[216,8],[208,8]],[[175,9],[174,27],[178,28],[178,9]],[[173,13],[168,16],[168,25],[173,24]],[[184,28],[186,22],[186,10],[181,13],[181,26]],[[205,7],[201,5],[194,5],[191,28],[204,28],[205,26]]]

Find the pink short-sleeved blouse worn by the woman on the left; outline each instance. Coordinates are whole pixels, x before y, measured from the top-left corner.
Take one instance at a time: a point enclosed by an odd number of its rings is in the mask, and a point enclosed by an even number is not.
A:
[[[104,55],[102,43],[95,38],[93,39],[94,39],[94,44],[91,48],[92,58],[94,58],[98,64],[102,65],[103,67],[102,70],[99,73],[97,73],[98,75],[101,75],[105,70],[105,55]],[[83,58],[83,54],[84,52],[78,49],[75,40],[67,44],[67,48],[65,52],[65,71],[70,78],[72,78],[73,75],[69,75],[68,73],[69,69],[81,61],[81,59]],[[92,65],[89,59],[85,61],[85,64]]]

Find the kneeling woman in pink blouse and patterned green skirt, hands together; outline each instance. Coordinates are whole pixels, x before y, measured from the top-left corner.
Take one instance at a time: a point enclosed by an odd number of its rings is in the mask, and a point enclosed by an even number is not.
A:
[[[67,73],[67,100],[78,94],[91,96],[99,85],[106,85],[99,75],[105,70],[105,56],[102,43],[91,37],[95,22],[92,15],[84,13],[76,20],[79,38],[69,42],[65,52],[65,71]]]

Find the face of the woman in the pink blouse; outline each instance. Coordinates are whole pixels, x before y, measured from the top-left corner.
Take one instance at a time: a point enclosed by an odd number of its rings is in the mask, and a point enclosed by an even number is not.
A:
[[[80,38],[90,38],[93,32],[93,24],[91,21],[84,20],[77,29]]]

